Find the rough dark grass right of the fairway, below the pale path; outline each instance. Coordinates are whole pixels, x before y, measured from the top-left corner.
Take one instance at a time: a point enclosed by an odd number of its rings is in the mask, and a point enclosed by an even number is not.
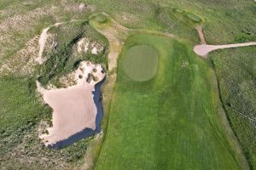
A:
[[[212,53],[220,94],[230,126],[252,169],[256,169],[256,48],[225,49]]]

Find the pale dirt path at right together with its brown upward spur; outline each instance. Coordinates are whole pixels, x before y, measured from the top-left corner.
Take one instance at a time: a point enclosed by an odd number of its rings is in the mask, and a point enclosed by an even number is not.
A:
[[[201,39],[201,45],[196,45],[194,47],[194,52],[195,54],[198,54],[201,57],[206,59],[207,59],[207,55],[213,50],[224,49],[224,48],[239,48],[239,47],[256,45],[256,42],[244,42],[244,43],[234,43],[234,44],[224,44],[224,45],[207,45],[204,33],[202,31],[202,27],[198,26],[196,27],[196,30],[198,31],[198,35]]]

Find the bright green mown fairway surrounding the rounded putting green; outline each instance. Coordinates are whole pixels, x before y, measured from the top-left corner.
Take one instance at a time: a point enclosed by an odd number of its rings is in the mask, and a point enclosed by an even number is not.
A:
[[[158,69],[148,82],[131,81],[122,66],[135,44],[158,50]],[[214,80],[187,42],[129,37],[96,169],[244,169],[224,127]]]

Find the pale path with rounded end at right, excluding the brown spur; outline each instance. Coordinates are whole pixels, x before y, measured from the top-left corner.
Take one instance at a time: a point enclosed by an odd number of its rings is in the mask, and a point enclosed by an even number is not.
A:
[[[194,51],[196,54],[204,58],[207,58],[207,54],[209,54],[213,50],[224,49],[224,48],[239,48],[239,47],[246,47],[246,46],[253,46],[253,45],[256,45],[256,42],[244,42],[244,43],[234,43],[234,44],[225,44],[225,45],[201,44],[201,45],[196,45],[194,47]]]

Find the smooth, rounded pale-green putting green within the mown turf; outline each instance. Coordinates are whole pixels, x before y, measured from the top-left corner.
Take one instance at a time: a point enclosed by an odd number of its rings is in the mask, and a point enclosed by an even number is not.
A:
[[[154,77],[158,65],[158,52],[148,45],[136,45],[124,52],[125,74],[137,82]]]

